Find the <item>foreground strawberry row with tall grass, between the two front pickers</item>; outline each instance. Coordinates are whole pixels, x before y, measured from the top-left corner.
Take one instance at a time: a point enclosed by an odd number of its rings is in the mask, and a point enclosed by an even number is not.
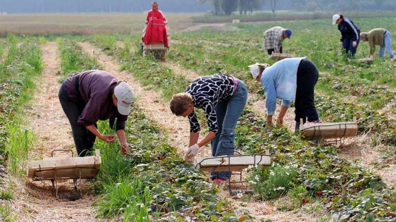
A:
[[[108,43],[106,38],[98,41]],[[112,38],[109,42],[116,48]],[[103,48],[107,48],[105,44]],[[81,54],[73,56],[78,58]],[[135,65],[143,64],[139,59]],[[115,134],[105,122],[99,123],[99,130]],[[166,143],[164,130],[138,107],[132,109],[125,131],[131,150],[127,157],[119,152],[116,143],[95,144],[102,158],[94,182],[94,192],[100,194],[95,203],[100,217],[139,222],[186,221],[187,217],[194,221],[237,221],[229,203],[217,195],[217,187],[207,183],[204,174],[187,164]]]

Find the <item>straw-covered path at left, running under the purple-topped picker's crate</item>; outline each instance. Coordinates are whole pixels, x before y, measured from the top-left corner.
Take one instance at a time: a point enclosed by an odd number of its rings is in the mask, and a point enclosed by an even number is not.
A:
[[[58,100],[58,45],[49,42],[43,45],[42,50],[44,71],[37,80],[37,92],[25,116],[27,127],[37,138],[37,144],[31,148],[29,154],[32,158],[49,156],[53,149],[74,145],[68,120]],[[67,181],[62,185],[70,187],[71,182]],[[17,186],[17,198],[14,200],[17,221],[103,221],[95,218],[92,209],[95,197],[92,195],[84,194],[83,199],[76,201],[58,199],[51,192],[49,182],[31,182],[27,178],[26,181],[17,183]]]

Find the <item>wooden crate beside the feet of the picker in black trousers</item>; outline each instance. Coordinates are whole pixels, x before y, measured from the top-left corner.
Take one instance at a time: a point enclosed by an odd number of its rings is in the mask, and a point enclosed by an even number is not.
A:
[[[336,139],[357,135],[357,123],[308,123],[300,126],[306,139]]]

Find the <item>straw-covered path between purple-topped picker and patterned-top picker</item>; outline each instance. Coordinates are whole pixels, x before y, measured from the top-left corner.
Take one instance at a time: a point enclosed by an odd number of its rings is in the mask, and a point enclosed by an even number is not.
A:
[[[112,57],[105,55],[100,49],[89,43],[84,42],[80,45],[89,55],[96,57],[106,71],[128,82],[138,97],[137,105],[145,111],[150,119],[169,131],[169,143],[172,146],[178,148],[182,153],[185,152],[189,143],[190,125],[188,121],[173,115],[169,104],[164,102],[156,91],[143,88],[131,74],[125,71],[120,72],[119,65],[114,62]]]

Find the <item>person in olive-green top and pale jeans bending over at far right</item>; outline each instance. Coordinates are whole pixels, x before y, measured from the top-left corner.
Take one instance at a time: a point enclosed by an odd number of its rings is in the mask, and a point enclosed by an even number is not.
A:
[[[369,58],[371,58],[374,54],[375,45],[380,46],[380,58],[383,58],[385,55],[385,49],[389,54],[389,58],[393,61],[396,57],[393,54],[392,50],[392,42],[390,37],[390,32],[385,29],[373,29],[370,32],[362,32],[360,34],[360,38],[363,42],[369,42],[370,45],[370,53]]]

